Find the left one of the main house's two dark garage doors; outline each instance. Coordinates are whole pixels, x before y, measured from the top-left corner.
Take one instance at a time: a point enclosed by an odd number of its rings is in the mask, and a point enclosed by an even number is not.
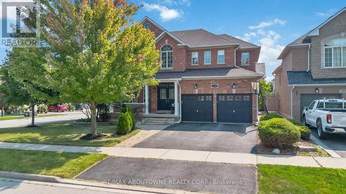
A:
[[[212,122],[212,95],[181,95],[183,122]]]

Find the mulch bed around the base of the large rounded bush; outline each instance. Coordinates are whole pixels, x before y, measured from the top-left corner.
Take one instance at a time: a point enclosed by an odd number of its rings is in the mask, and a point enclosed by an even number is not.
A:
[[[259,140],[260,141],[260,140]],[[311,146],[317,148],[314,152],[302,152],[299,151],[298,146]],[[259,154],[275,155],[272,153],[274,148],[268,148],[259,142],[257,146],[257,152]],[[311,140],[300,139],[299,142],[293,144],[293,146],[287,146],[286,148],[280,149],[280,155],[299,155],[299,156],[316,156],[316,157],[331,157],[328,153],[323,150],[320,146],[314,144]]]

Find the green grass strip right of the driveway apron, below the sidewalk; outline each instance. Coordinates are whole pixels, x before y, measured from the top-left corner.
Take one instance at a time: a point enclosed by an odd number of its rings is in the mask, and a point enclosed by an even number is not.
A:
[[[258,164],[259,193],[346,193],[346,170]]]

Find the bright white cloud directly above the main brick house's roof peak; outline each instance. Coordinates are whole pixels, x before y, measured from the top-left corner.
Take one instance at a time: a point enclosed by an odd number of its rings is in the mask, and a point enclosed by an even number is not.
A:
[[[178,18],[183,17],[183,11],[175,10],[175,9],[169,9],[166,6],[161,6],[158,4],[143,3],[143,8],[146,11],[156,10],[156,11],[160,12],[160,18],[162,21],[170,21],[172,19],[178,19]]]

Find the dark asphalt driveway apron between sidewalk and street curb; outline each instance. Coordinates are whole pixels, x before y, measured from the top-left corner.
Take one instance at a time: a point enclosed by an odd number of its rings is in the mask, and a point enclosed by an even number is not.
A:
[[[78,179],[210,193],[256,193],[256,166],[108,157]]]

